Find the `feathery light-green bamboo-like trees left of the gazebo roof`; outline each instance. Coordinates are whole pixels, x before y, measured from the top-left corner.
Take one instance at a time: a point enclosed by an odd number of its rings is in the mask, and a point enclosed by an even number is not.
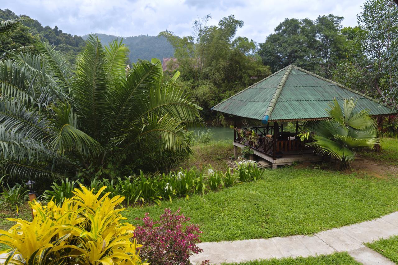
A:
[[[175,49],[182,84],[203,107],[205,117],[222,99],[271,74],[256,55],[256,43],[246,37],[235,37],[243,21],[233,15],[224,17],[217,26],[208,26],[210,15],[195,21],[193,35],[177,37],[171,31],[161,32]]]

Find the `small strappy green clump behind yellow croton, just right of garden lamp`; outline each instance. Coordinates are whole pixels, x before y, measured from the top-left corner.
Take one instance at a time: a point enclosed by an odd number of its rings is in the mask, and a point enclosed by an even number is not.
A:
[[[52,200],[53,202],[57,203],[57,205],[61,205],[65,199],[69,199],[74,196],[72,191],[77,184],[77,181],[69,181],[68,178],[62,179],[60,185],[58,185],[56,182],[53,182],[53,185],[51,185],[52,190],[46,190],[40,198],[44,201]]]

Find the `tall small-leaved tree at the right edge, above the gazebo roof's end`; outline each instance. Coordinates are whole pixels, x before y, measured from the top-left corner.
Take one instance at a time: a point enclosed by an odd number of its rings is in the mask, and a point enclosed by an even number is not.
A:
[[[347,59],[334,79],[398,107],[398,6],[392,0],[368,0],[358,26],[343,31],[351,40]]]

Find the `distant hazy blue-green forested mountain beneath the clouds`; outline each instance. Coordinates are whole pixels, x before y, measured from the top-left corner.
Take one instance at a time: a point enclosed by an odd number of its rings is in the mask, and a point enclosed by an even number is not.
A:
[[[105,45],[117,38],[117,36],[114,35],[101,33],[97,35],[101,39],[101,43]],[[88,35],[82,37],[86,40]],[[119,37],[119,39],[120,38],[121,37]],[[151,58],[162,60],[163,57],[173,57],[174,55],[173,46],[164,36],[139,35],[123,37],[123,43],[130,49],[129,58],[131,62],[137,62],[138,59],[150,60]]]

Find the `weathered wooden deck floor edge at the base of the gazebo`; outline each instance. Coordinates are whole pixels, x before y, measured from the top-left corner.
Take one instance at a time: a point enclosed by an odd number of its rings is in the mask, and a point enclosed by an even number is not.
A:
[[[246,145],[240,144],[238,142],[234,142],[234,146],[244,148]],[[322,161],[322,156],[314,155],[312,152],[310,154],[295,154],[295,155],[284,155],[281,158],[273,159],[272,156],[264,154],[256,149],[252,149],[256,156],[259,156],[269,162],[272,163],[272,168],[277,168],[277,166],[281,165],[291,165],[295,161],[300,162],[319,162]]]

